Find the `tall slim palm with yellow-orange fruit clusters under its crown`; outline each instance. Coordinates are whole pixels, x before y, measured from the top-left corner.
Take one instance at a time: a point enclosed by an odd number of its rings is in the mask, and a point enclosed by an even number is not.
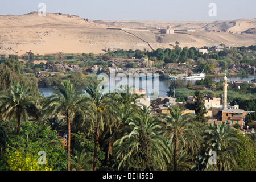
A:
[[[109,95],[102,94],[98,91],[97,83],[86,86],[86,93],[89,94],[89,110],[90,121],[95,126],[94,129],[94,155],[93,155],[93,171],[97,169],[97,150],[99,143],[100,131],[108,126],[111,131],[110,122],[114,121],[113,107],[115,102],[110,99]]]

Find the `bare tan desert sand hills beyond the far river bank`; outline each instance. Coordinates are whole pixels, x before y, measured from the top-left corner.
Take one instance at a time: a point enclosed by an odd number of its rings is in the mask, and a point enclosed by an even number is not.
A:
[[[174,34],[159,34],[159,28]],[[183,31],[181,31],[183,30]],[[185,30],[185,31],[184,31]],[[186,30],[195,30],[188,32]],[[224,31],[225,30],[225,31]],[[88,20],[76,15],[38,12],[0,16],[0,54],[105,53],[106,49],[157,49],[256,44],[256,18],[217,22],[138,22]]]

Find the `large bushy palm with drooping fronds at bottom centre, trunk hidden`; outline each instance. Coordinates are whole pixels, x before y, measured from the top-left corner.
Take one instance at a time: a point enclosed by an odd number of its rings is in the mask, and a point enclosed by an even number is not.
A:
[[[165,160],[168,157],[168,146],[164,138],[159,135],[160,122],[154,115],[150,115],[148,108],[139,108],[129,127],[121,129],[126,135],[114,142],[116,159],[121,158],[118,169],[154,169],[166,170]]]

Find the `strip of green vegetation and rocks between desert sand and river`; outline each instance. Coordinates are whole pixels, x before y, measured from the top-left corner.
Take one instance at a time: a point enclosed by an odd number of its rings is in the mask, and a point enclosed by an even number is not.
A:
[[[94,73],[109,74],[109,68],[128,69],[131,73],[158,73],[159,77],[181,73],[206,73],[207,77],[253,75],[256,72],[256,46],[225,47],[222,51],[208,48],[201,53],[195,47],[174,49],[156,49],[154,51],[128,51],[119,49],[95,55],[94,53],[55,55],[34,55],[32,51],[24,55],[1,55],[0,63],[7,59],[19,61],[20,73],[35,77],[38,84],[45,86],[61,85],[60,80],[69,78],[84,84],[86,77]],[[205,47],[206,49],[206,47]]]

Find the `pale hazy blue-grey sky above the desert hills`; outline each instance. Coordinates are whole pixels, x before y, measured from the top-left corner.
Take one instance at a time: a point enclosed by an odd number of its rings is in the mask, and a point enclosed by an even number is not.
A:
[[[90,20],[214,21],[256,18],[255,0],[0,0],[0,15],[38,11],[78,15]],[[216,16],[209,16],[216,3]]]

